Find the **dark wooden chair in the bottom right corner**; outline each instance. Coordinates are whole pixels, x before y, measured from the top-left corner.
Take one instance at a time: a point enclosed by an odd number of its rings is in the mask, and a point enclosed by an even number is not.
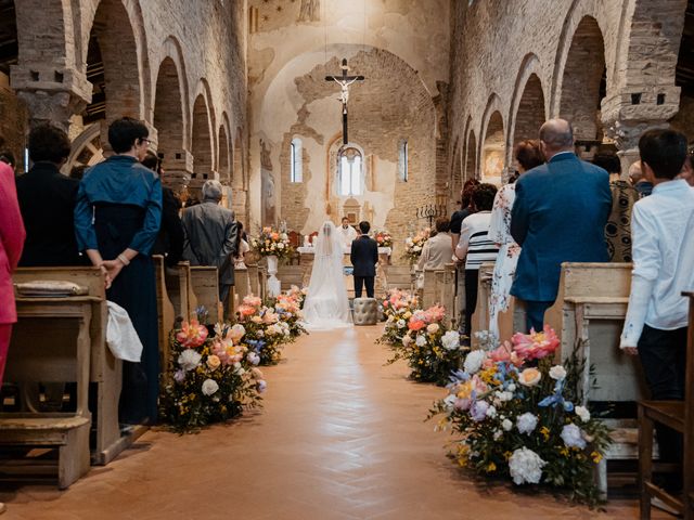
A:
[[[640,401],[639,402],[639,486],[641,490],[641,518],[651,518],[651,498],[657,497],[672,509],[683,515],[685,520],[694,519],[694,291],[684,292],[690,298],[690,323],[686,342],[686,367],[684,401]],[[682,499],[671,495],[653,483],[653,428],[658,422],[683,435],[684,459],[682,476],[684,489]],[[663,467],[664,470],[679,470]]]

